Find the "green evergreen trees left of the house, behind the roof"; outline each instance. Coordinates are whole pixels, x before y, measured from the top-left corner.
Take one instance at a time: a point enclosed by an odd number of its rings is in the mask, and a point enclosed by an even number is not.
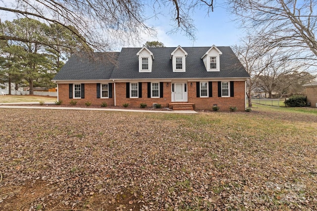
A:
[[[89,48],[72,30],[30,18],[1,22],[2,36],[19,36],[18,40],[0,41],[2,88],[3,84],[8,84],[11,94],[11,88],[29,86],[33,94],[33,87],[54,87],[51,80],[71,54]]]

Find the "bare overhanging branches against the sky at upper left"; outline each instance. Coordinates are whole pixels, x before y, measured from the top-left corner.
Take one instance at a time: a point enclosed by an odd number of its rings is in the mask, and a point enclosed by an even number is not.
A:
[[[153,34],[153,28],[145,24],[149,17],[145,9],[150,5],[143,0],[12,0],[3,3],[1,11],[15,13],[18,16],[37,18],[48,24],[58,24],[70,30],[78,40],[85,42],[94,50],[109,50],[112,42],[138,41],[141,33]],[[159,7],[168,6],[176,30],[180,29],[194,39],[195,26],[191,11],[200,6],[213,10],[213,0],[153,0]],[[154,16],[156,16],[154,12]],[[74,28],[72,28],[72,27]],[[0,40],[23,42],[42,42],[38,40],[21,40],[18,35],[0,34]],[[52,47],[52,43],[43,42]]]

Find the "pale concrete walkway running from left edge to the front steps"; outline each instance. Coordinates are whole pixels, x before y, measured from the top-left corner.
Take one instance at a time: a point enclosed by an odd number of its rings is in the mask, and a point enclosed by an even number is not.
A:
[[[198,114],[196,111],[156,111],[156,110],[138,110],[138,109],[116,109],[116,108],[89,108],[89,107],[53,107],[53,106],[17,106],[18,104],[39,104],[39,102],[21,102],[21,103],[0,103],[0,108],[14,109],[51,109],[51,110],[84,110],[84,111],[123,111],[123,112],[142,112],[142,113],[170,113],[170,114]],[[45,104],[54,104],[47,102]]]

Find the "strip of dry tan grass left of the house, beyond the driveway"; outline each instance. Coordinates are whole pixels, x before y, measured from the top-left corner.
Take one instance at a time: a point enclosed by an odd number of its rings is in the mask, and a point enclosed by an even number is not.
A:
[[[0,103],[54,102],[57,97],[39,95],[0,95]]]

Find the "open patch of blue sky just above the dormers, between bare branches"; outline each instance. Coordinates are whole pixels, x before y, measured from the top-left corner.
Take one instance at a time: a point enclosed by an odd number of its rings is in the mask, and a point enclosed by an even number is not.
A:
[[[226,11],[225,8],[216,4],[213,12],[209,15],[204,9],[197,9],[193,15],[194,24],[197,28],[196,41],[191,41],[183,33],[166,34],[171,30],[171,21],[166,16],[159,16],[159,19],[147,21],[148,26],[154,26],[158,35],[157,38],[144,36],[146,41],[163,42],[166,47],[172,46],[232,46],[243,37],[243,30],[239,29],[238,23],[234,21],[235,16]]]

